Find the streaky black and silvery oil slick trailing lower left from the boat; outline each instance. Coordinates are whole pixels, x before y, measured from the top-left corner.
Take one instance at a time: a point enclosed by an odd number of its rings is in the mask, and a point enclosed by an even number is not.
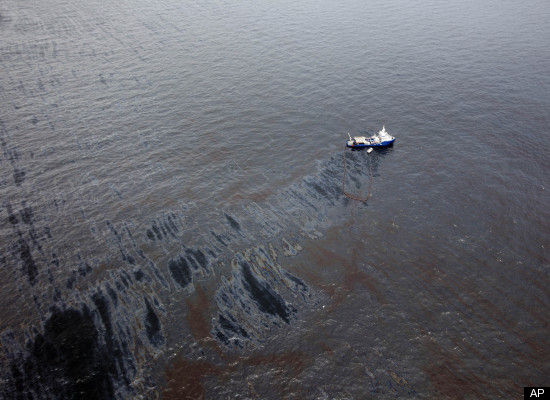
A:
[[[17,152],[5,141],[2,147],[15,163]],[[148,227],[90,218],[83,210],[95,238],[90,249],[57,247],[68,238],[55,240],[59,232],[47,213],[61,213],[65,200],[38,209],[5,202],[0,216],[12,239],[0,262],[4,270],[16,266],[10,279],[34,299],[34,317],[26,326],[1,327],[0,393],[52,399],[148,393],[151,360],[178,345],[165,321],[184,318],[180,299],[200,282],[214,285],[205,321],[220,348],[254,347],[274,328],[291,329],[300,310],[318,306],[318,297],[281,259],[296,255],[300,241],[319,237],[328,215],[348,204],[340,160],[332,157],[263,203],[224,210],[217,222],[192,228],[187,209],[166,210]],[[379,160],[350,155],[350,182],[360,186]],[[11,183],[18,190],[21,184]]]

